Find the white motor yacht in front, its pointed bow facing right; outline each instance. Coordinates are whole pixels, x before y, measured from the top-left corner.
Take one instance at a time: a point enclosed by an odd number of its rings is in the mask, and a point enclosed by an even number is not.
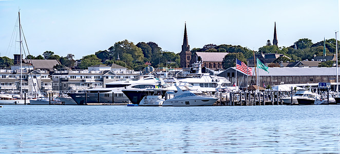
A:
[[[177,86],[177,92],[167,92],[174,95],[172,99],[165,100],[163,106],[211,106],[217,98],[204,95],[199,90],[193,90],[188,86]]]

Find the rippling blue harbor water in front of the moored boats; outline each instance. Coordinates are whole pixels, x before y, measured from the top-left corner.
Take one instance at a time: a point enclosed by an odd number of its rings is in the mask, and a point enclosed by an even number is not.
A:
[[[340,153],[340,106],[3,105],[0,153]]]

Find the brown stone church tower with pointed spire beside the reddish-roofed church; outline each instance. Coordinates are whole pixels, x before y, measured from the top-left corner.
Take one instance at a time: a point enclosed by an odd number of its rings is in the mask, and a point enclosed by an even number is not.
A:
[[[191,52],[190,52],[190,46],[187,41],[187,33],[186,33],[186,23],[184,25],[184,37],[183,37],[183,45],[182,45],[182,51],[179,53],[181,63],[180,67],[190,67],[190,61],[191,61]]]

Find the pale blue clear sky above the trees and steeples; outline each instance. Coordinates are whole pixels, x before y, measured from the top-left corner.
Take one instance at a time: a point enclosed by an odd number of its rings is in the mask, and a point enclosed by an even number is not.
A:
[[[0,56],[20,53],[10,46],[19,8],[32,55],[53,51],[81,59],[125,39],[135,45],[155,42],[163,51],[179,53],[185,22],[191,49],[230,44],[258,50],[273,41],[274,22],[279,47],[300,38],[317,43],[335,38],[338,6],[337,0],[0,0]]]

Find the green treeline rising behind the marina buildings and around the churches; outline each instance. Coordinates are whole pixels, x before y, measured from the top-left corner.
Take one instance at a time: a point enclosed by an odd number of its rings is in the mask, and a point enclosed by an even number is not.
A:
[[[339,43],[339,41],[338,41]],[[325,41],[326,54],[335,54],[335,39],[331,38]],[[290,47],[277,47],[272,45],[270,40],[267,41],[265,46],[262,46],[255,51],[255,53],[282,53],[291,58],[289,61],[311,61],[316,56],[322,56],[324,49],[324,41],[312,43],[312,40],[308,38],[301,38],[293,43]],[[338,49],[340,49],[338,47]],[[247,47],[239,45],[215,45],[207,44],[202,48],[193,48],[191,50],[194,55],[196,52],[228,52],[223,59],[223,68],[233,67],[235,57],[237,59],[247,63],[247,59],[253,56],[253,51]],[[42,55],[33,56],[27,55],[27,59],[55,59],[59,60],[62,65],[55,66],[56,69],[62,69],[64,67],[74,68],[74,55],[67,54],[66,56],[59,56],[54,54],[53,51],[45,51]],[[276,60],[274,62],[288,61],[287,59]],[[112,63],[127,67],[128,69],[134,69],[136,71],[142,70],[146,67],[145,63],[149,62],[153,67],[179,67],[180,56],[179,53],[162,50],[155,42],[139,42],[134,44],[128,40],[116,42],[113,46],[108,47],[107,50],[97,51],[90,55],[85,55],[80,59],[78,63],[78,69],[87,69],[88,66],[104,64],[110,65]],[[0,57],[0,67],[9,67],[13,65],[13,60],[8,57]],[[275,65],[275,64],[273,64]],[[77,69],[77,68],[76,68]]]

